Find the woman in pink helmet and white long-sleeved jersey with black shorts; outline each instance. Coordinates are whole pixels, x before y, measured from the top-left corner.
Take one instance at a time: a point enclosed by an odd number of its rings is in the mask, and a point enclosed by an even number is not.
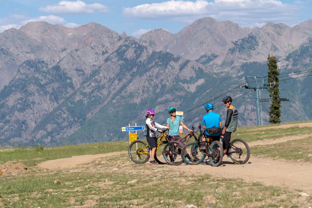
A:
[[[146,111],[146,129],[147,129],[147,134],[146,134],[146,140],[149,143],[149,147],[151,148],[151,150],[149,151],[149,158],[150,158],[150,164],[152,165],[158,165],[158,162],[155,161],[155,151],[156,151],[156,146],[157,146],[157,137],[156,137],[156,131],[159,131],[161,133],[163,133],[162,130],[158,129],[158,128],[162,128],[162,129],[166,129],[166,126],[160,125],[159,123],[155,123],[153,121],[155,116],[155,111],[148,109]]]

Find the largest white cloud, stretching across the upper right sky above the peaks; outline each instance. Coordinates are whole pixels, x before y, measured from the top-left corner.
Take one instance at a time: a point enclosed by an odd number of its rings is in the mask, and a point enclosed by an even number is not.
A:
[[[188,24],[202,17],[212,17],[218,21],[231,20],[246,27],[272,19],[284,23],[286,19],[295,20],[298,10],[297,5],[283,4],[278,0],[171,0],[123,8],[123,15],[141,19],[172,19]]]

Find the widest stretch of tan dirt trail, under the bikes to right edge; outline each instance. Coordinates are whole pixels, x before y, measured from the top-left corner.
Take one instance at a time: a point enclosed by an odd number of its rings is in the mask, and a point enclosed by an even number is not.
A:
[[[244,165],[235,165],[230,158],[225,157],[219,167],[200,164],[197,166],[181,165],[173,168],[192,173],[208,173],[216,177],[241,178],[247,182],[259,181],[272,186],[285,185],[312,194],[311,163],[272,160],[251,155],[249,161]]]

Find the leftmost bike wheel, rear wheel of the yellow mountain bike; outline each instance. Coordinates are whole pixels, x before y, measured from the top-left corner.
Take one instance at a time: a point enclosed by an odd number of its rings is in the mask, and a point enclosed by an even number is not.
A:
[[[135,140],[130,143],[128,154],[133,162],[143,164],[149,160],[149,145],[141,140]]]

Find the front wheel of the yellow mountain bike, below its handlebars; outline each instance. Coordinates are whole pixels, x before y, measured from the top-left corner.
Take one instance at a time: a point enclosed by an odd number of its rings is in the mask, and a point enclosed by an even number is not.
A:
[[[178,141],[170,141],[163,150],[163,157],[169,165],[181,165],[183,160],[181,152],[183,143]],[[171,154],[170,154],[171,153]]]

